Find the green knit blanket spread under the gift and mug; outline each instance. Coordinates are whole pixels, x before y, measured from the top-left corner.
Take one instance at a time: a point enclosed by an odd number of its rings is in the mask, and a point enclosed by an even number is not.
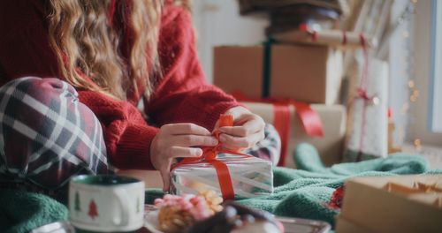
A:
[[[405,174],[442,174],[442,169],[429,170],[428,162],[419,155],[394,154],[385,159],[336,164],[324,167],[316,149],[304,144],[297,147],[298,169],[274,168],[275,192],[269,196],[241,199],[241,204],[281,216],[323,220],[334,225],[339,209],[328,203],[332,192],[350,177],[398,176]],[[146,202],[162,196],[159,190],[148,190]],[[41,194],[0,191],[0,232],[28,232],[43,224],[67,219],[67,208]]]

